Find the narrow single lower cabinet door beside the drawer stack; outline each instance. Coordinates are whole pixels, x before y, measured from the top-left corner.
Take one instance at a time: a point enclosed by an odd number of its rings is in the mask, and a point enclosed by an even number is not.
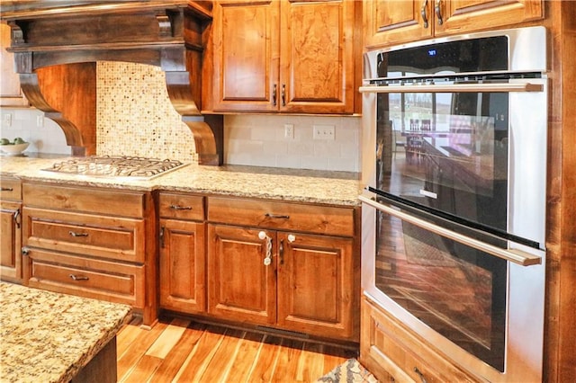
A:
[[[206,310],[202,222],[160,220],[160,306],[184,313]]]

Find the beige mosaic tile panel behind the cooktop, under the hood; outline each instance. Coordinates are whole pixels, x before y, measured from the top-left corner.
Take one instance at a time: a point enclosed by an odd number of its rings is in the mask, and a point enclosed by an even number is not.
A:
[[[160,67],[97,63],[96,153],[193,161],[192,132],[172,107]]]

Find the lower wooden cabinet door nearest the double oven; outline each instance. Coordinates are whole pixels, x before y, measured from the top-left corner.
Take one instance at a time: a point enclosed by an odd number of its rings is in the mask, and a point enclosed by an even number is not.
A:
[[[357,340],[353,240],[284,232],[277,236],[278,325]]]

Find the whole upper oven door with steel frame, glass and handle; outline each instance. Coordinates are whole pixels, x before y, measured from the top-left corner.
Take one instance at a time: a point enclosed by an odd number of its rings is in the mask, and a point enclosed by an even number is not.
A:
[[[363,177],[378,198],[543,248],[545,78],[361,92],[364,150],[374,153]]]

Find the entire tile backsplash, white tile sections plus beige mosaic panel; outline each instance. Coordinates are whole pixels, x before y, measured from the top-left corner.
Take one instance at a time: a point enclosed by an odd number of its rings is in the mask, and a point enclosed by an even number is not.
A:
[[[194,160],[190,129],[174,110],[159,67],[123,62],[97,64],[98,155]],[[70,154],[55,122],[33,109],[2,109],[2,137],[22,137],[28,151]],[[10,126],[4,114],[12,113]],[[293,126],[286,137],[285,125]],[[314,139],[314,126],[334,129],[332,139]],[[236,114],[224,117],[224,162],[359,172],[361,119],[357,116]]]

